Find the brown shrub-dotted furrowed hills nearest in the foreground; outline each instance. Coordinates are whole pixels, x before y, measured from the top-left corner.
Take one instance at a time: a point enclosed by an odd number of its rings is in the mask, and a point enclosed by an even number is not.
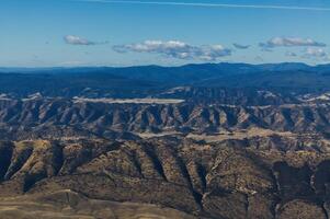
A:
[[[254,150],[244,141],[3,142],[1,196],[70,189],[158,204],[198,218],[327,218],[329,154]],[[1,210],[1,207],[0,207]]]

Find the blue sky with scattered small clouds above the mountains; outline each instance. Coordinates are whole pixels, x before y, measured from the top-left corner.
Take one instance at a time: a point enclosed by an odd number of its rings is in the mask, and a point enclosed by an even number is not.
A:
[[[0,0],[0,67],[330,62],[329,0]]]

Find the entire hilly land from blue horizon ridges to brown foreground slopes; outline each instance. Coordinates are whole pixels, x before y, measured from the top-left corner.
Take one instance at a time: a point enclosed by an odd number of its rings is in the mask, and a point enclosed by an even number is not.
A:
[[[329,218],[328,66],[4,70],[1,217]]]

